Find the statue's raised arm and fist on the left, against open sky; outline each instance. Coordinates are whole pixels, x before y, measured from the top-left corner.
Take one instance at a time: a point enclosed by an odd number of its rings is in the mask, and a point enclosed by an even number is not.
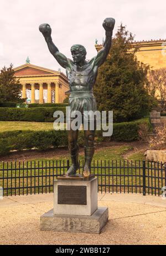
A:
[[[39,25],[39,30],[43,34],[45,41],[48,45],[49,51],[51,54],[53,54],[54,58],[57,60],[57,62],[63,66],[63,68],[66,68],[68,65],[68,59],[59,52],[58,48],[53,43],[53,40],[51,38],[51,27],[49,24],[41,24]]]

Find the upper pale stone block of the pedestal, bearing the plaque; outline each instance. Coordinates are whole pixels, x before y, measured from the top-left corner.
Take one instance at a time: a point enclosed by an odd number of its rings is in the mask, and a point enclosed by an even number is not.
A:
[[[91,216],[96,209],[97,178],[54,181],[54,214]]]

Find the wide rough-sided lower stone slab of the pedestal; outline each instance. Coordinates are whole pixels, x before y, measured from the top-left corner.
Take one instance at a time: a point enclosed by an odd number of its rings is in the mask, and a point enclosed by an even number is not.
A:
[[[98,207],[91,216],[53,214],[53,209],[40,217],[40,230],[100,234],[108,221],[108,207]]]

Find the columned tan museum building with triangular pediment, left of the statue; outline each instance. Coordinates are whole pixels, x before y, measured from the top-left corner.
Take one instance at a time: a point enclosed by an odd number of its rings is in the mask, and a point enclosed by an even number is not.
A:
[[[22,98],[27,98],[27,103],[63,103],[70,89],[61,71],[25,63],[14,68],[14,74],[22,84]]]

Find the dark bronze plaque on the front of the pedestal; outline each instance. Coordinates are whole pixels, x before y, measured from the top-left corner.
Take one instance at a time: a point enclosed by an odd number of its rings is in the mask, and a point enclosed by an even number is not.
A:
[[[58,204],[80,204],[86,202],[86,186],[58,186]]]

